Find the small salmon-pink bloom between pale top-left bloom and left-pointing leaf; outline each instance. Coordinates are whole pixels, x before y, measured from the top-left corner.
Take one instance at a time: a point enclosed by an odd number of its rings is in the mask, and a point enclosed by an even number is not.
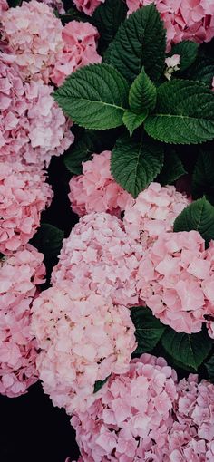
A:
[[[80,67],[102,62],[96,50],[99,34],[92,24],[71,21],[63,27],[62,36],[63,51],[57,56],[51,75],[57,86]]]

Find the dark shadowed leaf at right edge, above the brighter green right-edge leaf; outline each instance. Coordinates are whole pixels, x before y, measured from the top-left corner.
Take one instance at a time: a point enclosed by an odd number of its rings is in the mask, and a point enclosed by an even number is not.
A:
[[[192,175],[192,196],[214,197],[214,152],[200,151]]]

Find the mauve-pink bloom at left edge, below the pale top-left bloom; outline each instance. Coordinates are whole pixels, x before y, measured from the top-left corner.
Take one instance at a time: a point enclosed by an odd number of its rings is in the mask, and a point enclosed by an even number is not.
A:
[[[0,161],[22,159],[43,167],[68,149],[71,124],[52,91],[43,82],[23,83],[14,56],[0,53]]]

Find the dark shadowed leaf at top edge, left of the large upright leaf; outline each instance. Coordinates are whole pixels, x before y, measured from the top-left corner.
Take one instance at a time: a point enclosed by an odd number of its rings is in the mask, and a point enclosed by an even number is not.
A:
[[[126,18],[127,9],[125,2],[118,0],[105,0],[104,4],[95,9],[92,24],[97,27],[106,44],[112,42],[120,24]]]

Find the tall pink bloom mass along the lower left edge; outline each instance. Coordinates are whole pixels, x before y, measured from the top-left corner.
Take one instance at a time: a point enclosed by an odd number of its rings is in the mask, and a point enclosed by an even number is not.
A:
[[[31,304],[44,274],[43,255],[32,245],[0,260],[0,393],[10,398],[38,380]]]

